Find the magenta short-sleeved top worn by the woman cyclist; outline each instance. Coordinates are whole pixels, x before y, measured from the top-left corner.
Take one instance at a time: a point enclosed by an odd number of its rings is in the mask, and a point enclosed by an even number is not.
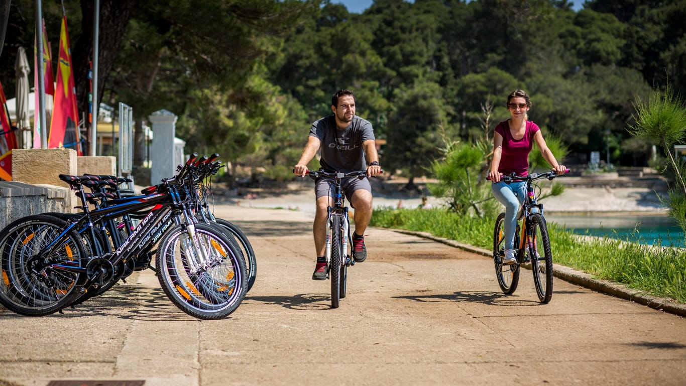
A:
[[[534,122],[526,121],[524,137],[512,138],[510,125],[507,121],[500,122],[495,126],[495,132],[503,136],[503,151],[500,157],[498,171],[502,174],[514,174],[518,176],[528,175],[529,153],[534,146],[534,135],[541,130]]]

